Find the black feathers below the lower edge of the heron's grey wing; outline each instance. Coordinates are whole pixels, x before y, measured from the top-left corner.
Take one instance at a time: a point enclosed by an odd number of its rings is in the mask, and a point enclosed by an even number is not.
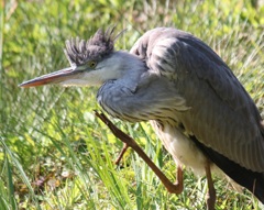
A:
[[[191,136],[191,140],[212,163],[224,172],[224,174],[239,185],[249,189],[262,203],[264,203],[264,173],[252,172],[240,166],[212,148],[205,146],[195,136]]]

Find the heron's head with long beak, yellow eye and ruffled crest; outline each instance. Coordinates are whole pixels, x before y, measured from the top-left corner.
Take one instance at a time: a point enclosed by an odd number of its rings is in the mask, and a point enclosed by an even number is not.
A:
[[[48,84],[63,86],[101,85],[110,79],[122,77],[125,52],[114,51],[114,41],[123,32],[113,35],[114,27],[102,30],[88,41],[72,38],[66,41],[65,54],[70,67],[24,81],[20,87],[35,87]]]

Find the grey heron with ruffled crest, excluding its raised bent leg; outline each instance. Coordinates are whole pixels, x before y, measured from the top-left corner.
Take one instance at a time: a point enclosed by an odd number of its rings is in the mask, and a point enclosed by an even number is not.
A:
[[[97,101],[110,115],[151,122],[179,177],[183,165],[206,172],[208,209],[216,201],[213,167],[264,202],[264,123],[228,65],[202,41],[174,27],[147,31],[130,52],[114,49],[119,35],[109,27],[88,41],[66,41],[70,67],[20,87],[98,85]]]

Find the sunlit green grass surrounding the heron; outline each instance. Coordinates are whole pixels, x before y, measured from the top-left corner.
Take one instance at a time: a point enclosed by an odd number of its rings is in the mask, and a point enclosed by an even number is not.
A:
[[[99,27],[128,29],[117,49],[130,49],[155,26],[176,26],[209,44],[264,110],[264,7],[248,1],[62,0],[0,3],[0,209],[205,209],[206,180],[185,173],[185,190],[169,195],[92,110],[97,88],[21,89],[23,80],[68,66],[66,38]],[[114,123],[133,136],[172,179],[175,164],[147,123]],[[216,178],[217,210],[257,209]],[[261,208],[260,208],[261,209]]]

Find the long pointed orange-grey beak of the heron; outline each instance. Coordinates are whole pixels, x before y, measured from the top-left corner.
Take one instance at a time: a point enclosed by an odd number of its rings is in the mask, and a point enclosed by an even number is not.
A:
[[[68,79],[74,79],[76,75],[78,75],[79,73],[81,73],[81,70],[78,70],[77,68],[68,67],[62,70],[57,70],[55,73],[36,77],[29,81],[24,81],[20,84],[19,87],[30,88],[30,87],[36,87],[36,86],[44,86],[48,84],[59,84]]]

